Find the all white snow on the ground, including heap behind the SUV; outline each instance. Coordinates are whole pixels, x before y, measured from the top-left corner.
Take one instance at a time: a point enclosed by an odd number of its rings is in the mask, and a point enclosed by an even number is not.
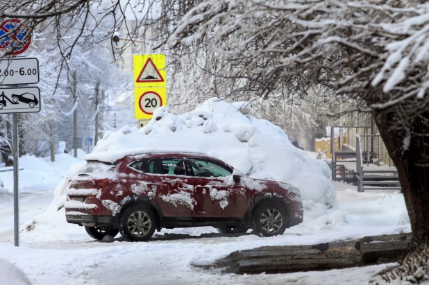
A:
[[[65,221],[62,207],[66,178],[85,162],[64,154],[58,155],[55,163],[26,156],[20,159],[24,171],[20,171],[19,248],[12,245],[12,173],[0,173],[8,189],[0,194],[0,259],[15,264],[33,284],[367,283],[384,265],[252,276],[224,275],[219,270],[194,266],[211,264],[235,250],[264,245],[314,244],[410,232],[400,193],[357,193],[351,185],[331,183],[326,162],[292,146],[285,132],[269,121],[239,112],[242,105],[211,99],[183,115],[159,108],[155,119],[140,130],[124,127],[117,132],[106,132],[94,152],[85,158],[112,161],[146,152],[147,148],[171,148],[174,141],[176,148],[199,150],[224,159],[253,178],[294,184],[301,190],[305,208],[301,225],[271,238],[249,232],[226,237],[212,227],[197,227],[162,230],[148,243],[94,241],[83,227]],[[80,163],[71,166],[75,162]]]

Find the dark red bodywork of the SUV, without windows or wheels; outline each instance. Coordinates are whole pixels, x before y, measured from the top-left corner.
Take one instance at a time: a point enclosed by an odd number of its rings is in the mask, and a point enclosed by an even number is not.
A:
[[[184,175],[144,173],[131,166],[146,161],[144,159],[166,157],[184,159]],[[124,157],[115,164],[88,162],[88,167],[102,164],[103,171],[81,171],[69,180],[65,203],[67,221],[117,227],[121,209],[128,203],[142,201],[153,205],[158,212],[161,220],[158,230],[160,227],[215,226],[228,219],[235,219],[230,220],[231,223],[249,223],[249,214],[260,200],[274,199],[287,207],[291,216],[289,226],[302,223],[301,197],[292,185],[245,175],[241,175],[238,182],[234,182],[233,175],[192,176],[189,159],[205,159],[234,171],[232,166],[202,153],[146,153]]]

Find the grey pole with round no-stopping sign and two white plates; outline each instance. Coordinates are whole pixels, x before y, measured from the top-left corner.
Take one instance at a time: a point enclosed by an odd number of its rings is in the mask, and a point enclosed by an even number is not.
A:
[[[20,55],[31,46],[30,30],[19,26],[19,19],[7,19],[0,24],[0,51]],[[18,29],[19,27],[19,29]],[[17,113],[40,112],[40,90],[27,87],[39,82],[39,61],[37,58],[9,58],[0,60],[0,114],[12,114],[13,135],[13,225],[14,244],[19,246],[19,165],[18,165],[18,118]]]

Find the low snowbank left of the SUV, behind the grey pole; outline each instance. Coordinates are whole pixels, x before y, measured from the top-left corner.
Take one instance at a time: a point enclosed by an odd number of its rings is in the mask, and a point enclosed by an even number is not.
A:
[[[70,166],[81,159],[76,159],[67,153],[55,156],[51,162],[49,157],[41,158],[34,155],[19,157],[19,191],[44,191],[54,189],[64,178]],[[9,193],[13,191],[13,171],[0,173],[0,180]],[[0,190],[1,191],[1,190]]]

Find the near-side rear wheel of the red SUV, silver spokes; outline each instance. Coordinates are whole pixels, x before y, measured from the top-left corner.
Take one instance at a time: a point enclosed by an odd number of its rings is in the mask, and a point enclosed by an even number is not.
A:
[[[156,217],[145,205],[127,207],[119,217],[119,232],[131,241],[148,241],[156,229]]]

